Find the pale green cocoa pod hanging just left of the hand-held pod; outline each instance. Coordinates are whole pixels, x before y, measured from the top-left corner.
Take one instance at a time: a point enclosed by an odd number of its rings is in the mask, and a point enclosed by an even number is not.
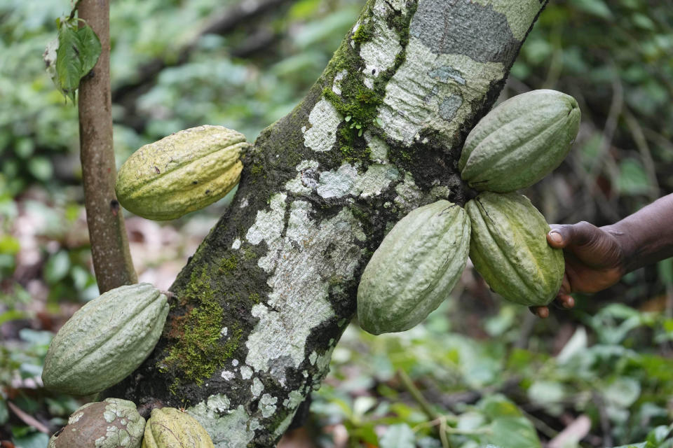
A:
[[[470,219],[440,200],[409,213],[381,241],[358,286],[358,320],[374,335],[409,330],[454,288],[468,260]]]

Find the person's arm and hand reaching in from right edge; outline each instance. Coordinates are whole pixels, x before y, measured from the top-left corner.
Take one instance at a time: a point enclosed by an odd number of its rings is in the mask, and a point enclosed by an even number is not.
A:
[[[627,272],[673,256],[673,195],[601,228],[585,221],[552,225],[547,241],[564,250],[566,273],[556,302],[571,308],[571,293],[596,293]],[[547,307],[531,311],[542,318],[549,315]]]

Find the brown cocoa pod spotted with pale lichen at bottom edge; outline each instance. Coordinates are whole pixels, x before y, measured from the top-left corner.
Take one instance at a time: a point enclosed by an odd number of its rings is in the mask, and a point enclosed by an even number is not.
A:
[[[145,419],[120,398],[87,403],[49,439],[47,448],[140,448]]]

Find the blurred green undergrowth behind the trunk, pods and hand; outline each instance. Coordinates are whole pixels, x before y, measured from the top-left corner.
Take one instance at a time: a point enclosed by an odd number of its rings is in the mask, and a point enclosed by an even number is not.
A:
[[[301,99],[364,2],[111,3],[121,164],[142,144],[195,125],[254,140]],[[613,223],[673,192],[673,8],[550,3],[503,97],[561,90],[578,99],[583,123],[569,158],[525,193],[550,223]],[[2,447],[45,447],[46,433],[83,402],[39,380],[55,331],[97,297],[77,110],[41,58],[69,10],[67,0],[0,0]],[[141,281],[168,288],[228,201],[169,223],[129,216]],[[576,298],[572,311],[539,321],[467,269],[414,330],[372,337],[351,325],[313,393],[303,437],[286,446],[672,447],[672,260]]]

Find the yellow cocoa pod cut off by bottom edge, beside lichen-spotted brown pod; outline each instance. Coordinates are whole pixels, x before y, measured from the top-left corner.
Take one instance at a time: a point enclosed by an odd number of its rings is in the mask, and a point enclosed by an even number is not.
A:
[[[142,448],[215,448],[210,435],[191,415],[175,407],[152,409]]]

